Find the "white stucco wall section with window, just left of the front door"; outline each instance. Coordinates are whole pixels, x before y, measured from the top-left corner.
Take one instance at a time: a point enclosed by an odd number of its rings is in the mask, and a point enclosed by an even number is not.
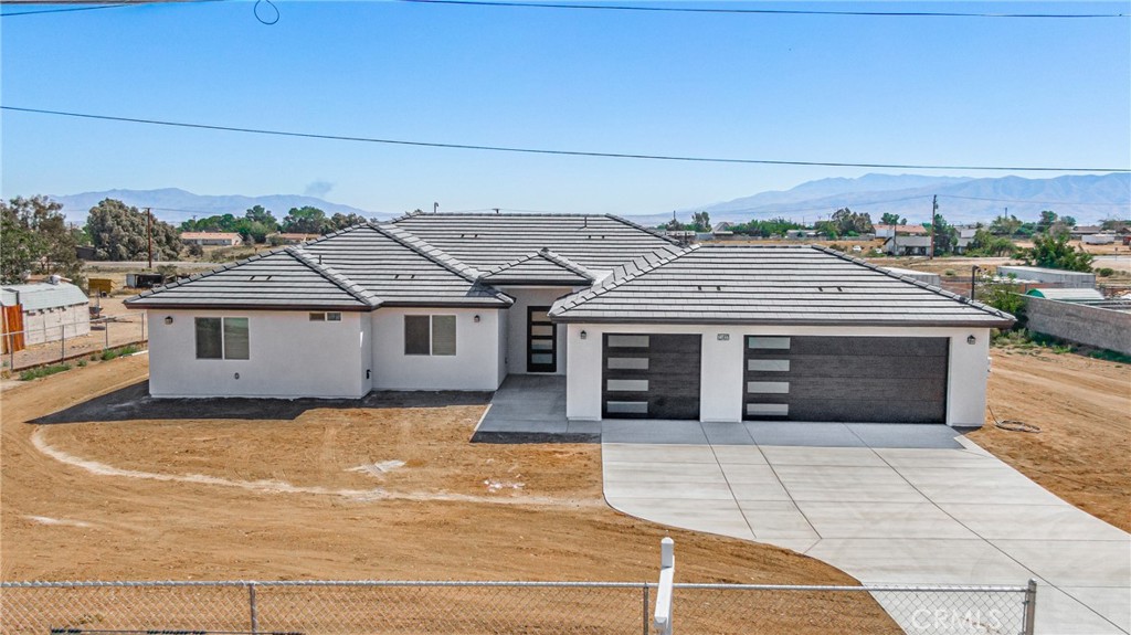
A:
[[[506,310],[503,310],[506,311]],[[373,390],[495,390],[504,360],[499,354],[497,308],[379,308],[373,328]],[[405,355],[405,315],[455,315],[456,355]],[[475,315],[480,321],[475,322]]]

